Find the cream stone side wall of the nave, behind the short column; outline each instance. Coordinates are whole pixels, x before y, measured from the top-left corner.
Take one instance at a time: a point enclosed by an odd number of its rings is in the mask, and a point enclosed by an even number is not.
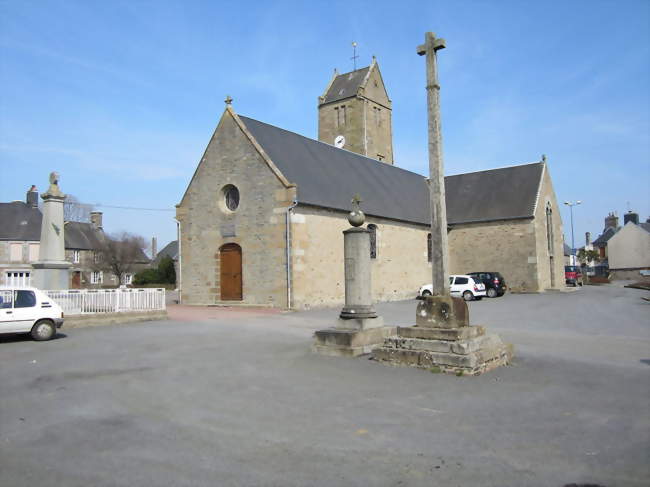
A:
[[[428,229],[422,225],[368,217],[377,226],[377,258],[372,260],[375,301],[409,299],[431,281]],[[342,305],[345,300],[343,230],[347,213],[299,206],[292,216],[293,305]]]

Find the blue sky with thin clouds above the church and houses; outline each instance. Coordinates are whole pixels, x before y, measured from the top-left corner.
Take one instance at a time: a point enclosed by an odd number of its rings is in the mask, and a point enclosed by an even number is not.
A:
[[[0,1],[0,201],[61,174],[109,232],[159,247],[223,112],[317,136],[333,69],[376,55],[398,166],[428,171],[424,59],[440,52],[446,174],[548,157],[576,245],[650,216],[648,1]],[[507,188],[505,188],[507,191]],[[563,207],[570,244],[568,208]]]

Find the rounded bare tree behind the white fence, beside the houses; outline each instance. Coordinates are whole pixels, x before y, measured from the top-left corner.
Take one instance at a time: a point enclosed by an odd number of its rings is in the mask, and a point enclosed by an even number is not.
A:
[[[95,265],[114,274],[121,283],[125,274],[132,274],[142,264],[148,263],[149,259],[144,253],[146,248],[145,239],[139,235],[128,232],[105,235]]]

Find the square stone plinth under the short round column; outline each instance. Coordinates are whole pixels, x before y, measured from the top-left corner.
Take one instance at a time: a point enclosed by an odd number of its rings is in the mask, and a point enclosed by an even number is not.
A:
[[[375,320],[380,318],[375,318]],[[380,326],[360,330],[328,328],[314,333],[312,351],[331,357],[356,357],[371,353],[395,335],[395,327]]]

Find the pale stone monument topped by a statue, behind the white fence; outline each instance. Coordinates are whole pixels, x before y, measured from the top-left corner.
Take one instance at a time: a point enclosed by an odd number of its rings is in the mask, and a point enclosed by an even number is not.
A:
[[[43,220],[38,262],[34,262],[32,285],[39,289],[67,289],[72,266],[65,260],[65,226],[63,202],[65,194],[59,188],[59,174],[50,174],[50,187],[43,198]]]

